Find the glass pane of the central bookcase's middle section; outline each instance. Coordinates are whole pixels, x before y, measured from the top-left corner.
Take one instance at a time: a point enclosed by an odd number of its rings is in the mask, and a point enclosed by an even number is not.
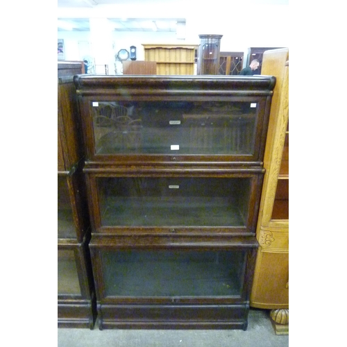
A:
[[[246,226],[250,178],[97,178],[102,226]]]

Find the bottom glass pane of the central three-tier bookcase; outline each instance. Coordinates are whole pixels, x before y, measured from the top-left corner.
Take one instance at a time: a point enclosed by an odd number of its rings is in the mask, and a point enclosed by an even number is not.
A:
[[[243,251],[102,251],[106,296],[238,296]]]

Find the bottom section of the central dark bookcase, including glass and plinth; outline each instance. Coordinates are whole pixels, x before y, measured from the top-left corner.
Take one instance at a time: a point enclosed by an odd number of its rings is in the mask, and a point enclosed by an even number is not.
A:
[[[254,239],[110,236],[90,246],[101,328],[246,329]]]

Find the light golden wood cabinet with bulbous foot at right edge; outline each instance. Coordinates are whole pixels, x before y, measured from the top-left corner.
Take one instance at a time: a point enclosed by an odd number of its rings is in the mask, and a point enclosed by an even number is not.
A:
[[[289,329],[289,49],[264,52],[263,73],[276,76],[264,155],[264,187],[257,223],[253,307],[273,310],[277,334]]]

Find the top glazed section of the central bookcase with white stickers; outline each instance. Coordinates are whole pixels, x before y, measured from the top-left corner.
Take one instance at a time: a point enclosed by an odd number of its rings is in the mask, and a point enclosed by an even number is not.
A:
[[[271,77],[155,77],[75,76],[88,160],[261,160]]]

